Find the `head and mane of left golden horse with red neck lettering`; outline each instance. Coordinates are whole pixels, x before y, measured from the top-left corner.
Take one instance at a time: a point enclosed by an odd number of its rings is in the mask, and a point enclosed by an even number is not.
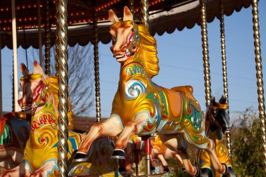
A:
[[[53,98],[53,109],[57,112],[58,99],[58,79],[56,76],[44,74],[42,67],[36,61],[33,63],[33,73],[30,73],[24,63],[20,64],[20,72],[23,77],[20,78],[22,86],[22,98],[18,100],[19,106],[26,114],[33,115],[38,108],[43,107],[51,98]],[[72,123],[72,105],[68,97],[68,126],[73,129]]]

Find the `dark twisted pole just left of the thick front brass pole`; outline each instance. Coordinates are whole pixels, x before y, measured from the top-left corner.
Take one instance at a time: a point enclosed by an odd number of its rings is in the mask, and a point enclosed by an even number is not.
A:
[[[51,75],[50,72],[50,48],[51,48],[51,29],[50,29],[50,15],[49,15],[49,0],[46,0],[45,4],[45,74]]]

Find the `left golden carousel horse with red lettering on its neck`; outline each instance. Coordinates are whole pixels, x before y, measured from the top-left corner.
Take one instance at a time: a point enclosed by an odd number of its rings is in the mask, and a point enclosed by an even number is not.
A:
[[[23,97],[18,103],[24,113],[31,115],[29,139],[24,149],[23,161],[0,176],[57,176],[59,129],[57,77],[45,75],[36,61],[33,63],[33,73],[30,74],[23,63],[20,65],[20,71],[23,74],[20,79]],[[71,116],[71,109],[68,111],[68,116]],[[68,159],[77,151],[83,137],[85,134],[68,131]],[[71,169],[74,169],[75,175],[82,173],[118,176],[118,164],[110,159],[112,151],[109,139],[98,139],[88,152],[86,166],[83,168],[75,166]]]

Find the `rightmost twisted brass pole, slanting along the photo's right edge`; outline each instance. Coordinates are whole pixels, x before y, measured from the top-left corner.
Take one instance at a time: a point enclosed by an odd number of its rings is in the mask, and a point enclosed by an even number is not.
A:
[[[259,39],[259,19],[258,19],[258,0],[252,0],[252,21],[253,21],[253,37],[255,47],[255,62],[256,62],[256,77],[257,77],[257,93],[258,93],[258,110],[259,110],[259,124],[262,140],[263,166],[264,175],[266,175],[266,123],[265,123],[265,105],[264,105],[264,90],[263,90],[263,75],[260,54],[260,39]]]

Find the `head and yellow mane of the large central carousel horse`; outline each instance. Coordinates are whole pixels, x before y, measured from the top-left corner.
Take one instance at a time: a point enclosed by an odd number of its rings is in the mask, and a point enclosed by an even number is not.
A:
[[[124,64],[138,60],[148,77],[157,75],[160,68],[156,39],[149,34],[147,27],[135,24],[127,7],[124,8],[123,21],[119,21],[113,10],[109,10],[109,20],[112,23],[109,32],[112,37],[110,50],[113,57]]]

